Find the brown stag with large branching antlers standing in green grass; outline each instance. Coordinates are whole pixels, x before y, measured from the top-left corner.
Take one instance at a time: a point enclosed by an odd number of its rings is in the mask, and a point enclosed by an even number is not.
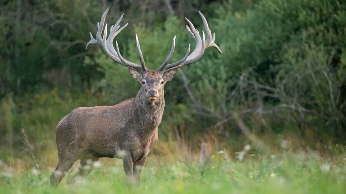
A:
[[[181,60],[169,63],[175,47],[174,36],[171,51],[165,61],[158,69],[149,70],[145,66],[137,34],[136,43],[141,65],[124,59],[117,41],[115,50],[113,40],[128,23],[120,27],[123,13],[115,25],[110,27],[107,38],[107,23],[104,23],[108,11],[109,8],[104,11],[101,21],[97,23],[96,39],[90,32],[90,41],[85,49],[90,45],[99,45],[108,57],[127,67],[130,75],[139,81],[141,87],[135,98],[124,100],[114,106],[79,107],[61,119],[56,126],[58,164],[50,177],[53,187],[58,186],[77,160],[80,160],[80,166],[72,181],[88,175],[92,166],[86,166],[90,165],[90,161],[98,161],[100,157],[122,159],[127,179],[139,183],[147,155],[158,140],[158,126],[165,108],[164,85],[173,79],[178,68],[200,59],[206,48],[214,47],[222,54],[214,42],[215,33],[211,34],[206,18],[199,11],[207,39],[204,31],[201,38],[199,31],[185,18],[189,24],[186,25],[186,29],[196,42],[194,50],[190,53],[189,44],[186,55]]]

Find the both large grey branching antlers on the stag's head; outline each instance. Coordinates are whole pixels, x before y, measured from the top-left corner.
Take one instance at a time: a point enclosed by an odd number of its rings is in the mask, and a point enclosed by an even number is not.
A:
[[[107,38],[107,23],[106,23],[106,25],[104,25],[104,21],[106,20],[106,16],[107,16],[108,11],[109,11],[109,8],[107,8],[106,11],[103,12],[100,23],[97,22],[96,39],[94,39],[94,37],[92,36],[92,34],[90,32],[90,41],[86,45],[85,49],[87,49],[90,45],[93,45],[93,44],[100,45],[102,47],[102,49],[106,52],[106,54],[111,59],[120,63],[121,65],[124,65],[125,67],[129,67],[129,68],[139,69],[142,72],[147,71],[148,68],[145,66],[145,62],[144,62],[144,58],[142,55],[142,51],[140,50],[139,40],[138,40],[137,34],[136,34],[136,43],[137,43],[138,56],[139,56],[141,65],[135,64],[131,61],[124,59],[120,54],[117,41],[116,41],[117,50],[114,49],[114,46],[113,46],[114,38],[121,32],[121,30],[123,30],[128,25],[128,23],[126,23],[123,27],[120,28],[119,23],[120,23],[122,17],[124,16],[124,13],[121,14],[120,18],[115,23],[115,25],[110,27],[109,36]],[[215,41],[215,33],[213,33],[213,35],[211,35],[211,31],[209,29],[208,22],[207,22],[206,18],[203,16],[203,14],[200,11],[198,11],[198,12],[199,12],[199,14],[203,20],[204,28],[206,29],[207,40],[205,40],[204,31],[202,31],[202,35],[203,35],[202,37],[203,38],[201,38],[198,30],[195,29],[195,27],[193,26],[191,21],[188,20],[187,18],[185,18],[186,21],[188,22],[189,26],[190,26],[189,27],[188,25],[186,25],[186,29],[188,29],[190,35],[192,36],[192,38],[196,42],[196,47],[194,48],[192,53],[189,55],[190,47],[191,47],[191,44],[189,44],[188,50],[186,51],[186,55],[181,60],[174,62],[172,64],[168,64],[168,62],[171,60],[173,53],[174,53],[174,47],[175,47],[175,36],[174,36],[170,54],[167,56],[166,60],[163,62],[163,64],[160,66],[160,68],[157,69],[157,71],[167,71],[167,70],[172,69],[172,68],[179,68],[179,67],[182,67],[186,64],[193,63],[203,56],[204,50],[206,50],[206,48],[208,48],[208,47],[214,47],[214,48],[216,48],[217,51],[219,51],[220,54],[222,54],[222,51],[214,42]],[[103,27],[104,27],[103,37],[101,37]]]

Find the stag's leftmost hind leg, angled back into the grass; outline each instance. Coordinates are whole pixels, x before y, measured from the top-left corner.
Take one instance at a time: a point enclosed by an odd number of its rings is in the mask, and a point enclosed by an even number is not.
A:
[[[65,173],[69,171],[72,165],[76,162],[75,159],[60,159],[54,172],[51,175],[51,186],[57,187],[60,181],[64,178]]]

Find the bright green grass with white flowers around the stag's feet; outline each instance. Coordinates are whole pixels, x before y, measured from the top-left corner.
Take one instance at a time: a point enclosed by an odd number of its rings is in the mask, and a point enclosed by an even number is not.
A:
[[[322,158],[316,153],[285,151],[268,156],[245,155],[244,161],[228,162],[224,154],[218,154],[203,166],[194,162],[160,162],[164,157],[150,155],[140,186],[131,189],[126,185],[121,161],[101,159],[101,166],[87,178],[70,184],[76,164],[56,189],[47,182],[52,167],[42,169],[42,183],[31,170],[2,176],[0,193],[346,193],[345,153]]]

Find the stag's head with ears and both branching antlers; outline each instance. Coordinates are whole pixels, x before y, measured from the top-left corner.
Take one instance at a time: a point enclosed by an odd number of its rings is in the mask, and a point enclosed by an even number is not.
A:
[[[110,33],[107,38],[107,23],[104,25],[104,22],[106,20],[106,16],[108,13],[109,8],[106,9],[106,11],[103,12],[101,21],[100,23],[97,23],[97,33],[96,33],[96,39],[93,38],[91,32],[90,32],[90,41],[86,45],[85,49],[88,48],[92,44],[98,44],[102,47],[102,49],[106,52],[106,54],[113,59],[114,61],[118,62],[119,64],[128,67],[131,76],[139,81],[142,84],[142,89],[144,90],[144,93],[146,94],[146,97],[148,98],[148,101],[154,104],[155,100],[160,97],[163,87],[167,81],[170,81],[173,79],[175,76],[177,69],[186,65],[186,64],[191,64],[195,61],[197,61],[199,58],[201,58],[204,54],[204,50],[208,47],[214,47],[219,51],[220,54],[222,54],[222,51],[220,48],[215,44],[215,33],[211,35],[211,31],[209,29],[208,23],[206,18],[203,16],[203,14],[199,11],[199,14],[203,20],[204,28],[206,30],[207,34],[207,39],[205,39],[204,31],[202,31],[202,37],[200,36],[198,30],[195,29],[193,24],[188,20],[187,18],[186,21],[188,22],[189,26],[186,25],[186,29],[189,31],[190,35],[196,42],[196,47],[190,54],[190,46],[189,44],[188,49],[186,51],[186,55],[179,61],[176,61],[174,63],[169,64],[173,53],[174,53],[174,47],[175,47],[175,36],[173,38],[172,42],[172,48],[167,56],[166,60],[163,62],[163,64],[156,70],[152,71],[149,70],[145,66],[144,58],[142,55],[142,51],[140,50],[140,45],[139,45],[139,40],[138,36],[136,34],[136,43],[137,43],[137,50],[138,50],[138,56],[140,59],[141,65],[135,64],[133,62],[130,62],[126,59],[124,59],[119,51],[119,46],[118,42],[116,41],[116,48],[115,50],[113,46],[113,40],[114,38],[123,30],[126,25],[120,28],[119,24],[124,16],[124,13],[121,14],[120,18],[118,21],[115,23],[115,25],[110,27]],[[103,37],[101,37],[101,33],[103,31],[104,27],[104,32],[103,32]]]

